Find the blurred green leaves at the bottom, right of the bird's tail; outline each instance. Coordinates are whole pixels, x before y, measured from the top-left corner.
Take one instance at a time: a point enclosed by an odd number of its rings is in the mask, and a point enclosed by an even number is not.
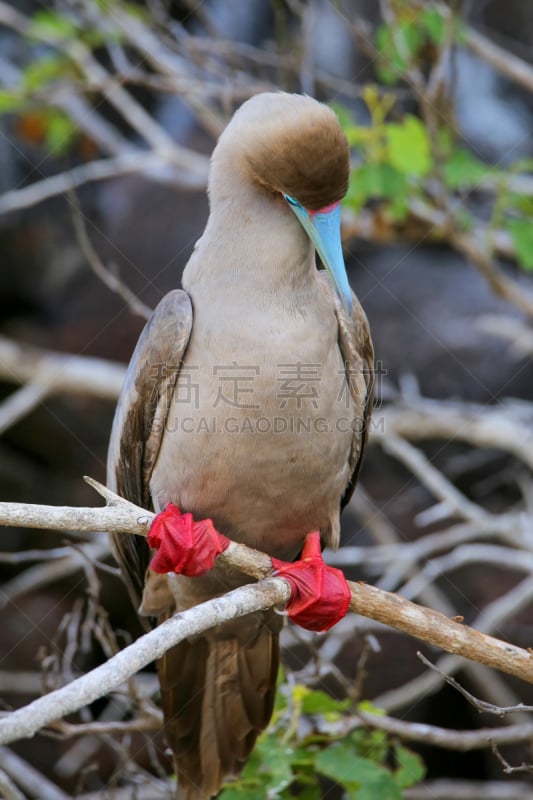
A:
[[[361,708],[383,713],[369,703]],[[320,800],[324,778],[341,786],[347,800],[402,800],[402,790],[424,777],[421,759],[384,731],[356,728],[339,734],[349,713],[349,700],[282,685],[269,728],[220,800]]]

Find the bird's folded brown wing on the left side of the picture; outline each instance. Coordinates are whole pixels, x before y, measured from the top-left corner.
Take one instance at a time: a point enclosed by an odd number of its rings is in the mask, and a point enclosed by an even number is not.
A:
[[[192,304],[178,289],[161,300],[142,331],[115,412],[107,457],[107,483],[117,494],[152,507],[150,478],[169,405],[192,330]],[[137,608],[150,559],[140,536],[112,536],[113,550]]]

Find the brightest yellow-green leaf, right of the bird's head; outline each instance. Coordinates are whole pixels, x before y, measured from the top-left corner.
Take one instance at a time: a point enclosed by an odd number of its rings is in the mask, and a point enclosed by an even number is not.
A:
[[[401,123],[386,126],[389,161],[405,175],[424,177],[431,169],[429,136],[418,117],[407,114]]]

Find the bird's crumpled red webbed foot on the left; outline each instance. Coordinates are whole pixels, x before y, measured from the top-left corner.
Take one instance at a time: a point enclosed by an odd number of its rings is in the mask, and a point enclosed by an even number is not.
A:
[[[157,550],[150,562],[154,572],[175,572],[189,578],[212,569],[216,557],[230,545],[210,519],[195,522],[192,514],[182,514],[173,503],[156,515],[147,542]]]

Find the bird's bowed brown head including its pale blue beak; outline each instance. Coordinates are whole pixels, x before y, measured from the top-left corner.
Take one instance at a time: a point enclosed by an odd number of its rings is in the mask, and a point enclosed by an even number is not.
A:
[[[294,213],[351,315],[340,234],[350,154],[336,114],[305,95],[267,92],[238,109],[220,141],[229,137],[248,177]]]

